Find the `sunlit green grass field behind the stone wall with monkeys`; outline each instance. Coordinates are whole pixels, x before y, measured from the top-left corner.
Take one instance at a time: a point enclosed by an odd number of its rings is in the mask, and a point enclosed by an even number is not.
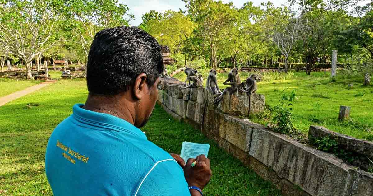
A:
[[[241,81],[244,81],[250,74],[240,72]],[[285,75],[285,74],[284,74]],[[281,92],[297,90],[298,100],[294,103],[294,125],[295,128],[308,134],[310,125],[322,125],[330,130],[346,134],[358,139],[373,141],[373,88],[364,87],[362,77],[344,79],[342,74],[337,74],[335,82],[330,81],[330,72],[311,72],[306,76],[305,72],[295,72],[288,76],[272,74],[266,80],[258,83],[257,93],[266,96],[266,104],[275,106],[278,103]],[[207,75],[206,75],[207,76]],[[206,78],[204,77],[204,86]],[[222,84],[228,73],[217,76],[218,83]],[[184,72],[175,75],[184,81]],[[354,88],[347,89],[347,84],[354,83]],[[219,85],[226,88],[228,85]],[[339,106],[351,106],[350,121],[339,122]],[[253,121],[266,124],[269,112],[258,115]]]

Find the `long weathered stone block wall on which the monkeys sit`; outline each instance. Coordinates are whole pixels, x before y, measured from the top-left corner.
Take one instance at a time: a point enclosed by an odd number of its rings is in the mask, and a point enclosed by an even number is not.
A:
[[[298,143],[263,125],[234,115],[247,115],[246,94],[224,97],[213,105],[204,88],[181,88],[185,83],[162,78],[158,102],[178,121],[185,121],[214,139],[258,175],[272,181],[283,195],[371,196],[373,174],[355,169],[336,156]],[[251,95],[253,113],[264,108],[264,96]],[[228,107],[228,108],[227,108]]]

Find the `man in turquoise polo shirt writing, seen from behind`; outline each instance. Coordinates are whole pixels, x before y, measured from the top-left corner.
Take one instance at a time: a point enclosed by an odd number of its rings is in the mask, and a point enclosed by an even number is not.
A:
[[[136,27],[95,35],[87,62],[88,98],[50,136],[46,174],[55,196],[200,196],[210,160],[186,164],[147,140],[144,126],[163,71],[160,46]]]

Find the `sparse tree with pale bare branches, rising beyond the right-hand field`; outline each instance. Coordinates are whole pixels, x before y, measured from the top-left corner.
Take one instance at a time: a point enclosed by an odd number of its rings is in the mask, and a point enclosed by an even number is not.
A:
[[[288,59],[294,42],[297,40],[298,20],[294,17],[295,13],[288,7],[273,7],[268,2],[263,18],[260,24],[264,29],[264,36],[273,42],[278,50],[285,56],[285,70],[288,70]]]

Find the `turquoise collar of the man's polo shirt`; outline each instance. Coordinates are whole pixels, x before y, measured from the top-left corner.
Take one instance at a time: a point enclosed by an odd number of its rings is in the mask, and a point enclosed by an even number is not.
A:
[[[89,125],[110,128],[117,131],[125,131],[147,140],[144,132],[142,132],[131,123],[107,113],[100,113],[83,109],[83,106],[84,104],[75,104],[73,106],[73,117],[76,120]]]

